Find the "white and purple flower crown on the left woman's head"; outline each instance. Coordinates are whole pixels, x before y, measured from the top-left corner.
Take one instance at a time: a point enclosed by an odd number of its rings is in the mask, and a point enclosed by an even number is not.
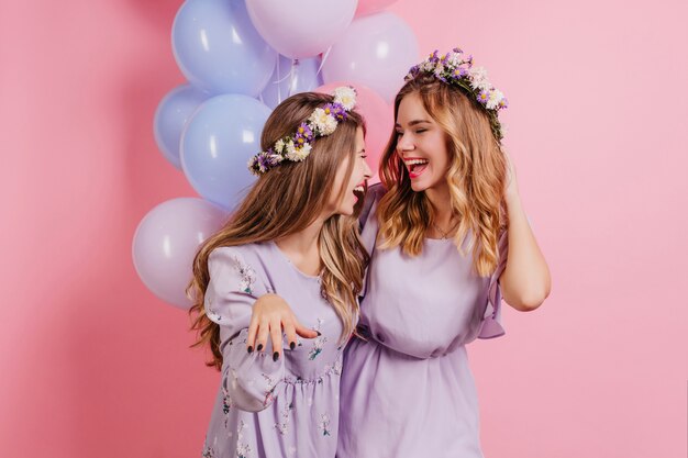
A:
[[[334,101],[317,108],[309,119],[299,125],[296,134],[278,139],[268,150],[248,159],[248,170],[260,176],[282,160],[300,163],[306,159],[311,154],[311,142],[317,137],[332,134],[337,123],[345,121],[348,112],[356,105],[356,90],[352,87],[339,87],[333,96]]]

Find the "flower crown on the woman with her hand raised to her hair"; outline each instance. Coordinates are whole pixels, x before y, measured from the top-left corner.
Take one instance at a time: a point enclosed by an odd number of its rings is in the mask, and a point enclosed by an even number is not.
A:
[[[458,86],[475,98],[490,116],[490,126],[497,141],[503,138],[503,126],[499,122],[499,110],[509,105],[504,94],[487,79],[484,67],[473,67],[473,56],[455,47],[440,57],[435,49],[425,60],[411,67],[404,80],[409,81],[421,74],[434,75],[440,81]]]

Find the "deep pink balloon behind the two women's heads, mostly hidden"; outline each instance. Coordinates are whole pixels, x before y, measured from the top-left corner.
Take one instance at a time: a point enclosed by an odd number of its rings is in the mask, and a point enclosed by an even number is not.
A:
[[[393,130],[393,110],[387,102],[375,92],[357,82],[330,82],[315,89],[317,92],[332,93],[340,86],[353,86],[356,88],[355,110],[363,114],[366,120],[366,161],[374,172],[379,168],[380,157],[389,142]]]

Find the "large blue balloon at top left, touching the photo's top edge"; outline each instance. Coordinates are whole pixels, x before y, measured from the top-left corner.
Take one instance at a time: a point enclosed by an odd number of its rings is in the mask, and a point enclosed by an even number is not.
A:
[[[184,75],[213,94],[259,94],[277,62],[277,53],[251,24],[243,0],[187,0],[171,37]]]

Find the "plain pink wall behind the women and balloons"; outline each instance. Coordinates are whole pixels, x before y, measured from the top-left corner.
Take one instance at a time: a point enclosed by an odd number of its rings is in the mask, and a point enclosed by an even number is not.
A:
[[[180,1],[0,3],[0,455],[199,456],[218,375],[138,281],[136,224],[195,196],[157,152]],[[554,290],[469,348],[486,457],[686,456],[685,2],[399,0],[510,99]],[[401,76],[400,76],[401,77]]]

